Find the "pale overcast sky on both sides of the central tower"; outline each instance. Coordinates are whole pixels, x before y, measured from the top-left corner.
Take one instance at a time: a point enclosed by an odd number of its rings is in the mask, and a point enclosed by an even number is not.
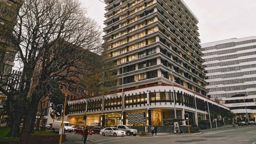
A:
[[[87,15],[101,28],[105,6],[103,0],[80,0]],[[229,38],[256,36],[255,0],[183,0],[198,18],[201,43]]]

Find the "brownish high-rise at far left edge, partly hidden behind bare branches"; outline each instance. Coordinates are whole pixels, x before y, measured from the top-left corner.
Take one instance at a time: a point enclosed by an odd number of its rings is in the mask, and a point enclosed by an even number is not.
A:
[[[17,51],[13,49],[13,28],[17,23],[17,14],[22,1],[0,0],[0,75],[1,85],[6,89],[6,78],[14,66],[14,58]],[[4,94],[0,94],[0,103],[5,99]]]

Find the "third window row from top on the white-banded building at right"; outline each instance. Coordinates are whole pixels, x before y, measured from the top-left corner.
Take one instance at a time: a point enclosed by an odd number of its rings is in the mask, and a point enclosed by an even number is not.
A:
[[[245,57],[245,56],[250,57],[250,55],[255,55],[255,54],[256,54],[255,51],[254,52],[244,52],[244,53],[239,53],[239,54],[225,55],[222,57],[208,58],[208,59],[205,59],[205,61],[236,59],[236,58]]]

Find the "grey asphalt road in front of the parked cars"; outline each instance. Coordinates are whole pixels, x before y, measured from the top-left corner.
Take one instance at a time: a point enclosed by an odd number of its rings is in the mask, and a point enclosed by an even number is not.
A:
[[[83,143],[81,134],[66,133],[67,140],[63,144]],[[201,130],[200,133],[158,133],[151,136],[130,136],[130,137],[103,137],[99,134],[88,135],[86,143],[103,144],[150,144],[150,143],[189,143],[189,144],[230,144],[230,143],[255,143],[256,125],[236,126],[226,125],[218,129]]]

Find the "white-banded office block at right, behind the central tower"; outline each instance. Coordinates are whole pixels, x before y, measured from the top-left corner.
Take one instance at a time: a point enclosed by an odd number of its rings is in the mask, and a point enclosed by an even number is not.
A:
[[[202,44],[208,97],[239,119],[256,117],[256,36]]]

